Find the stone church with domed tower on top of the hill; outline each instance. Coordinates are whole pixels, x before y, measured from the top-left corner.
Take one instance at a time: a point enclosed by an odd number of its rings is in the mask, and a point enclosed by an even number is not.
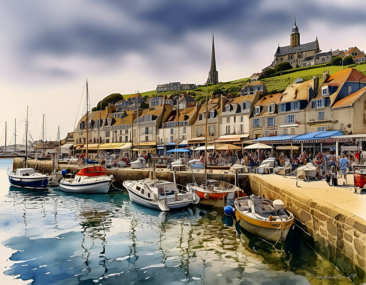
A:
[[[296,26],[295,19],[295,25],[292,28],[292,33],[290,35],[290,45],[287,45],[285,47],[280,47],[279,45],[276,50],[275,58],[273,59],[272,64],[267,68],[274,68],[277,64],[286,61],[290,62],[292,67],[294,68],[296,67],[296,65],[298,65],[299,67],[303,67],[305,66],[304,64],[307,64],[307,62],[304,63],[304,60],[306,61],[307,59],[309,59],[310,56],[314,57],[314,55],[319,52],[321,52],[321,50],[319,48],[317,37],[315,41],[308,42],[306,44],[300,44],[299,28],[298,26]],[[329,60],[327,60],[327,62]],[[311,63],[307,65],[311,65]]]

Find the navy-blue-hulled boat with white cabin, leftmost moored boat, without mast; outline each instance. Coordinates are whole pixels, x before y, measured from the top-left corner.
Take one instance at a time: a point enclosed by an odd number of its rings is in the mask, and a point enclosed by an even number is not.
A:
[[[37,173],[33,168],[7,170],[10,184],[28,189],[47,188],[48,175]]]

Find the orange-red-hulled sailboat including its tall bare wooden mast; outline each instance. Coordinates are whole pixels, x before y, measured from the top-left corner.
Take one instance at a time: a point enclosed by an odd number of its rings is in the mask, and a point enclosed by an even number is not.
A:
[[[206,84],[208,83],[208,79]],[[192,169],[192,174],[193,174],[193,183],[188,183],[187,184],[187,191],[188,192],[194,192],[198,195],[198,197],[201,200],[202,204],[206,204],[207,203],[204,201],[205,199],[212,199],[212,200],[218,200],[218,199],[224,199],[225,197],[228,196],[228,193],[234,192],[235,193],[235,197],[239,197],[239,196],[245,196],[246,194],[244,193],[244,191],[242,189],[240,189],[238,186],[236,185],[232,185],[230,183],[224,182],[224,181],[217,181],[214,179],[207,179],[207,169],[210,169],[207,166],[207,117],[208,117],[208,84],[207,84],[207,93],[206,93],[206,131],[205,131],[205,181],[202,182],[201,185],[197,185],[197,183],[194,180],[194,173],[193,173],[193,168]],[[216,203],[213,202],[212,205],[215,205]]]

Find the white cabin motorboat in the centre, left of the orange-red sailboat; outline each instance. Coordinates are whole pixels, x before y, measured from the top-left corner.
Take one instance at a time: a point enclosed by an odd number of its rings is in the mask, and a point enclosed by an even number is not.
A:
[[[127,189],[130,200],[161,211],[183,208],[191,203],[197,204],[199,197],[196,193],[179,190],[175,183],[156,178],[156,159],[150,159],[149,178],[123,181],[123,186]]]

